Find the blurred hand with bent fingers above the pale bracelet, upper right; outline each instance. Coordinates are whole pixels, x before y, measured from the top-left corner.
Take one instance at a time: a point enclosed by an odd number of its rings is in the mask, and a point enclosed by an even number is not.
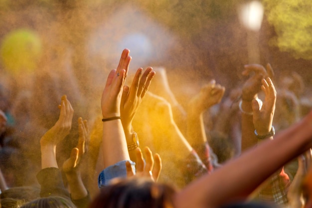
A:
[[[254,74],[252,75],[252,73]],[[274,75],[269,63],[267,64],[267,69],[260,64],[245,65],[245,70],[242,74],[244,76],[250,76],[242,89],[242,99],[245,101],[252,101],[254,98],[257,98],[257,93],[261,90],[261,80],[266,77],[273,77]]]

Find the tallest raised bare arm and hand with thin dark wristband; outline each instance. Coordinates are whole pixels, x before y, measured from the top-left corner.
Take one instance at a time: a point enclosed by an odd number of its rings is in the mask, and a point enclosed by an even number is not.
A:
[[[109,73],[102,94],[102,148],[105,168],[120,161],[130,160],[126,137],[120,119],[122,92],[131,60],[129,52],[128,49],[123,50],[118,67]]]

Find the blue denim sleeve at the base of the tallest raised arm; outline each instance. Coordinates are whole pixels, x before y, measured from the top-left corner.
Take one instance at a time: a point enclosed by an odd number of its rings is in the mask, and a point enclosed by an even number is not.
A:
[[[127,170],[126,170],[126,161],[120,161],[112,166],[107,167],[103,171],[101,171],[99,178],[98,178],[98,185],[99,188],[103,188],[107,186],[112,179],[122,177],[126,178],[127,177]],[[136,170],[135,162],[129,161],[131,163],[132,169]]]

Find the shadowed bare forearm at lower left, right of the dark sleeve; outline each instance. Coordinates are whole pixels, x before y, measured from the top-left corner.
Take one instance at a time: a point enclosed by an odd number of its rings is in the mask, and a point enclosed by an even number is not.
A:
[[[88,196],[88,191],[84,186],[80,173],[66,173],[66,179],[70,189],[70,195],[72,200],[80,200]]]

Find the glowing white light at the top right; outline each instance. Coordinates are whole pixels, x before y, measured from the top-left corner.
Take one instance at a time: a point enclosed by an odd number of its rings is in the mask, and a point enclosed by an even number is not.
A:
[[[251,1],[241,7],[241,21],[245,27],[259,31],[263,19],[263,5],[259,1]]]

